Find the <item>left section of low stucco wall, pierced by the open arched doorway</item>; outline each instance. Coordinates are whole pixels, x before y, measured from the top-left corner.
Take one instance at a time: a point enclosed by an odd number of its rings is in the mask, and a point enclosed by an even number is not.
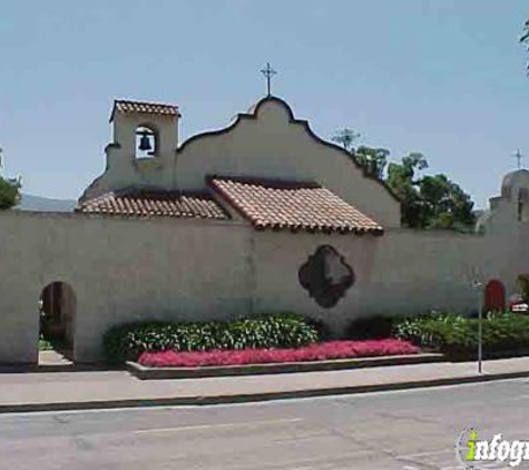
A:
[[[75,358],[100,358],[112,324],[246,314],[251,229],[179,219],[0,213],[0,363],[36,362],[38,300],[65,281],[77,295]]]

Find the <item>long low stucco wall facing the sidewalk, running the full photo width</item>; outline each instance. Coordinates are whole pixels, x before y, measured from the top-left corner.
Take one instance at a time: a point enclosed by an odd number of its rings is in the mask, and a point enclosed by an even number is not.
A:
[[[38,300],[65,281],[77,296],[75,358],[101,358],[111,325],[135,320],[229,319],[298,312],[343,334],[359,316],[469,312],[472,268],[509,294],[529,273],[529,224],[491,235],[388,229],[381,237],[255,232],[244,221],[127,219],[82,214],[0,213],[0,363],[36,362]],[[320,307],[298,270],[333,246],[356,282]]]

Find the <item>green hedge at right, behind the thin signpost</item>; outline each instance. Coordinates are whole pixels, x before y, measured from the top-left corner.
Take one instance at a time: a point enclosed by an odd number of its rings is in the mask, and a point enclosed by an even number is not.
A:
[[[394,324],[396,337],[451,355],[468,355],[478,349],[478,319],[428,315]],[[483,352],[488,355],[529,351],[529,316],[496,313],[483,319]]]

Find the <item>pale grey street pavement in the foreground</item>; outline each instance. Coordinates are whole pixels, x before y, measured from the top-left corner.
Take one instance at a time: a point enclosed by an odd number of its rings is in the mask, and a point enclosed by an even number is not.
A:
[[[483,437],[529,439],[529,380],[254,404],[2,414],[0,469],[448,470],[461,468],[454,447],[471,427]]]

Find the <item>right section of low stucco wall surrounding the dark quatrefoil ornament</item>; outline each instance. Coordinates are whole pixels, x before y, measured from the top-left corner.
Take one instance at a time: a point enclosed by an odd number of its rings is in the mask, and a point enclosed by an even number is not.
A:
[[[343,333],[355,317],[464,312],[477,305],[469,275],[481,267],[482,236],[386,231],[382,237],[259,233],[255,243],[256,311],[294,311]],[[321,245],[333,246],[356,282],[334,307],[323,309],[298,282],[298,268]]]

